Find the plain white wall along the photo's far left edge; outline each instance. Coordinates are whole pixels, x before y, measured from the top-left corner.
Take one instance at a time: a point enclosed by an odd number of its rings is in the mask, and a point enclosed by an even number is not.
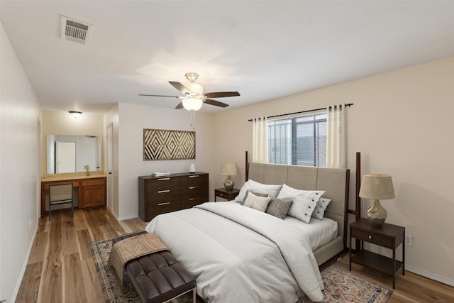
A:
[[[38,227],[40,108],[1,25],[0,300],[14,302]]]

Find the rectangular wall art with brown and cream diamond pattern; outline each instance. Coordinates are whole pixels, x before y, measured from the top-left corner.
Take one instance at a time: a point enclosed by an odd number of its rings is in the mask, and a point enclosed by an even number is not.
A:
[[[143,160],[195,158],[195,131],[168,131],[143,128]]]

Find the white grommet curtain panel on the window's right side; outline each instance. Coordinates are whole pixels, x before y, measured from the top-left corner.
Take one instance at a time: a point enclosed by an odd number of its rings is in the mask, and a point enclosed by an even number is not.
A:
[[[345,104],[326,109],[326,167],[345,168]]]

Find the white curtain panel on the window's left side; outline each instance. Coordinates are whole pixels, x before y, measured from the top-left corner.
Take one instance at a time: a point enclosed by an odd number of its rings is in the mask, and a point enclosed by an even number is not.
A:
[[[253,162],[268,162],[268,117],[253,119]]]

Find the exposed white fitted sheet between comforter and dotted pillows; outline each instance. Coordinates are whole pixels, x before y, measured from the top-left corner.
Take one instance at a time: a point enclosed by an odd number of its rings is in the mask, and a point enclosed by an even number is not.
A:
[[[338,223],[329,218],[323,218],[323,220],[311,218],[309,224],[306,224],[297,218],[286,216],[284,221],[300,229],[309,237],[312,250],[316,250],[338,236]]]

